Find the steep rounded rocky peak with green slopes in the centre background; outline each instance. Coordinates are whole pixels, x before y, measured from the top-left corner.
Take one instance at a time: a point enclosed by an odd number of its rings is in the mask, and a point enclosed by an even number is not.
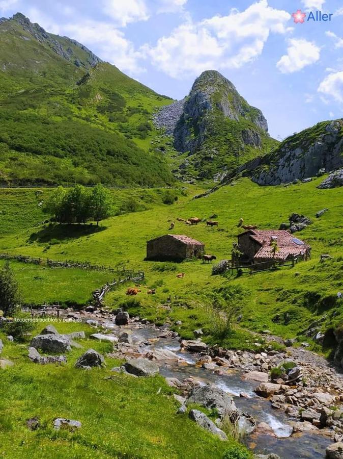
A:
[[[155,122],[174,136],[182,158],[174,172],[184,180],[220,180],[277,144],[261,110],[251,107],[215,70],[203,72],[189,95],[164,107]]]

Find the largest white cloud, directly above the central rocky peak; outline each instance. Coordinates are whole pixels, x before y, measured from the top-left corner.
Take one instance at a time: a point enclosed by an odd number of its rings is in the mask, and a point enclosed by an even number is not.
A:
[[[227,16],[200,22],[189,19],[156,46],[142,47],[153,65],[173,78],[194,75],[209,68],[239,68],[258,58],[269,34],[284,34],[291,18],[283,10],[268,6],[267,0]]]

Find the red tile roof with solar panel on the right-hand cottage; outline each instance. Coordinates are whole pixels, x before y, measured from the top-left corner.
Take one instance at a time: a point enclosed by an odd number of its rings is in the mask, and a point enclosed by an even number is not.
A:
[[[311,247],[306,242],[301,241],[293,234],[285,230],[248,230],[242,234],[250,233],[250,238],[261,244],[261,248],[255,253],[254,258],[266,259],[273,258],[285,260],[290,255],[298,256],[304,255],[306,250]],[[239,236],[241,236],[240,234]],[[277,240],[277,251],[275,256],[273,254],[273,247],[271,246],[271,239]]]

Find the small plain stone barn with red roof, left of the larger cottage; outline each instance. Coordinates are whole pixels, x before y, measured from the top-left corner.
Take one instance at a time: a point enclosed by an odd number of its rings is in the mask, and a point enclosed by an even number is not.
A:
[[[147,242],[146,260],[182,261],[200,258],[205,244],[182,234],[166,234]]]

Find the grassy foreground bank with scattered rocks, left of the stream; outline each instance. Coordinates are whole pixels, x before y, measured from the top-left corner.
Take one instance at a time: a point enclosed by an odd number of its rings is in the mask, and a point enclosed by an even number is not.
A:
[[[37,324],[38,334],[46,324]],[[94,329],[80,323],[54,324],[60,333],[84,330],[83,349],[73,348],[66,365],[37,365],[27,358],[28,340],[5,343],[2,358],[15,362],[2,370],[0,390],[0,454],[9,459],[43,459],[51,456],[81,458],[221,458],[233,440],[219,442],[186,415],[177,415],[178,404],[160,376],[134,378],[110,376],[118,360],[106,357],[107,369],[83,371],[73,367],[89,348],[111,351],[110,343],[90,340]],[[40,427],[31,431],[26,421],[38,417]],[[78,420],[75,432],[56,431],[53,420]]]

